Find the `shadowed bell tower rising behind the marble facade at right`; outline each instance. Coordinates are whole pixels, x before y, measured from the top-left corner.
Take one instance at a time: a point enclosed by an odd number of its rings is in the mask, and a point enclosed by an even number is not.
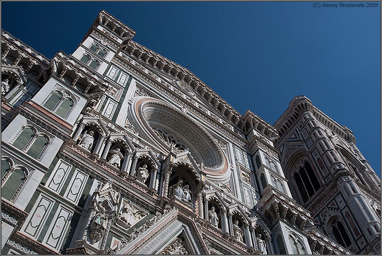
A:
[[[380,180],[353,133],[305,96],[295,97],[274,127],[293,198],[314,225],[354,253],[380,253]]]

